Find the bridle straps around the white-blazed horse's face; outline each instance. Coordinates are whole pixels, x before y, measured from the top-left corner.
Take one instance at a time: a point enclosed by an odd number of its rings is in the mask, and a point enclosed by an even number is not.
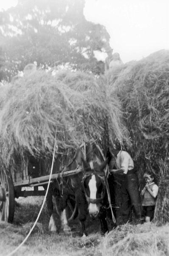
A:
[[[101,183],[103,184],[103,189],[101,191],[101,197],[100,198],[92,199],[87,195],[87,191],[86,191],[84,183],[85,183],[86,178],[89,177],[89,176],[92,176],[92,175],[98,176],[101,180]],[[83,189],[84,189],[84,192],[85,192],[85,197],[86,197],[86,200],[87,200],[88,204],[100,204],[103,201],[104,195],[105,195],[105,192],[106,192],[106,181],[105,181],[104,172],[96,172],[93,169],[91,171],[85,172],[83,177],[82,177],[82,185],[83,185]]]

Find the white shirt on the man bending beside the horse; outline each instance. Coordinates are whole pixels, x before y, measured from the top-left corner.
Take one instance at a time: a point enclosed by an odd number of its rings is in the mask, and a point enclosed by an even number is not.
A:
[[[122,169],[124,171],[124,174],[127,174],[128,170],[132,170],[134,168],[134,163],[130,154],[123,150],[118,152],[116,164],[118,169]]]

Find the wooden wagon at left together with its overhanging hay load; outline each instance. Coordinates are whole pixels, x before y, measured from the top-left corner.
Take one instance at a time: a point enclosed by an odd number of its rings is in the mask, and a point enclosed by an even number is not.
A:
[[[13,220],[15,198],[45,194],[39,187],[48,184],[51,160],[43,157],[53,154],[55,141],[58,154],[62,154],[62,150],[75,149],[83,141],[99,140],[111,146],[115,138],[127,138],[120,102],[102,82],[88,73],[65,70],[51,76],[37,70],[1,91],[1,220]],[[56,159],[51,182],[61,175],[74,153],[70,158],[65,154],[65,159]],[[74,172],[65,169],[62,175]],[[68,219],[76,210],[73,198],[69,205]]]

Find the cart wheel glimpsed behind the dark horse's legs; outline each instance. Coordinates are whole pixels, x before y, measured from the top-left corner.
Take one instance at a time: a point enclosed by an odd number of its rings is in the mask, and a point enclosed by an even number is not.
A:
[[[58,216],[60,216],[61,211],[60,211],[60,204],[61,204],[62,198],[60,196],[55,197],[55,207],[56,207],[56,213]],[[75,201],[75,197],[70,196],[67,201],[67,206],[66,206],[66,216],[68,221],[72,221],[75,219],[78,215],[78,209],[77,209],[77,204]]]

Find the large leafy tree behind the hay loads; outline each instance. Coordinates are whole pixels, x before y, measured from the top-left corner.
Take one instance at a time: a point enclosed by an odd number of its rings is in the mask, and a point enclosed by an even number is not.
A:
[[[104,26],[85,19],[85,0],[19,0],[16,7],[0,12],[5,79],[26,64],[70,67],[99,73],[103,70],[94,51],[110,48]],[[99,68],[97,68],[99,67]]]

